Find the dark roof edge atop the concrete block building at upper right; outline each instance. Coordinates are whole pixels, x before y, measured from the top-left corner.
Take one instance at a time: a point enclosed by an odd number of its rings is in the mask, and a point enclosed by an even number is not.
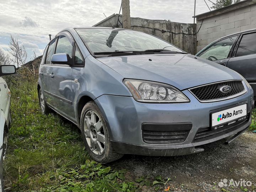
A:
[[[223,14],[223,13],[226,13],[226,12],[229,12],[229,11],[234,11],[236,9],[240,9],[242,7],[247,7],[247,6],[250,6],[250,5],[253,5],[253,4],[256,4],[256,0],[244,0],[244,1],[240,1],[238,3],[234,3],[232,5],[222,7],[220,9],[216,9],[216,10],[213,10],[213,11],[208,11],[206,13],[199,14],[199,15],[196,15],[196,16],[193,16],[193,17],[196,17],[197,20],[201,20],[201,19],[204,19],[204,18],[212,17],[212,16],[219,15],[219,14]]]

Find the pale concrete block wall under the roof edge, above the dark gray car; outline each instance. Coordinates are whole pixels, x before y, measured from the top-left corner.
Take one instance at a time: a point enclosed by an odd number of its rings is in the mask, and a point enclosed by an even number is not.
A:
[[[256,4],[197,19],[197,52],[220,37],[252,28],[256,28]]]

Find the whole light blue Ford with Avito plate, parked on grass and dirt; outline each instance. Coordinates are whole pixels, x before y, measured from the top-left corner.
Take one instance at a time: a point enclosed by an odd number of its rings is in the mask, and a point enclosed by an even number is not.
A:
[[[251,123],[254,95],[235,71],[150,34],[77,27],[59,32],[39,68],[42,112],[76,124],[92,158],[174,156]]]

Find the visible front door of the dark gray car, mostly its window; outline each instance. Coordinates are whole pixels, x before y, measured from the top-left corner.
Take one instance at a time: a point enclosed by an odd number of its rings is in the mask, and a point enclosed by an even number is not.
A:
[[[220,39],[199,53],[198,57],[226,66],[239,35],[240,34],[236,34],[234,36]]]

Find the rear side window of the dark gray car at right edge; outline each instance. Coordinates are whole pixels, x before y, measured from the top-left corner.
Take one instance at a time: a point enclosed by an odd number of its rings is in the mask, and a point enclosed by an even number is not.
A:
[[[245,34],[242,36],[236,57],[256,54],[256,33]]]

